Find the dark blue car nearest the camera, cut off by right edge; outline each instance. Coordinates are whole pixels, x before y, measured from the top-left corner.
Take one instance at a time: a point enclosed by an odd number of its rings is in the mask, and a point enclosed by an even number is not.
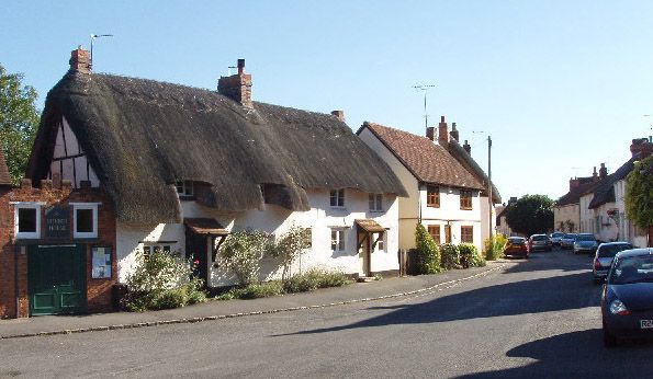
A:
[[[653,249],[617,253],[601,295],[604,343],[653,337]]]

